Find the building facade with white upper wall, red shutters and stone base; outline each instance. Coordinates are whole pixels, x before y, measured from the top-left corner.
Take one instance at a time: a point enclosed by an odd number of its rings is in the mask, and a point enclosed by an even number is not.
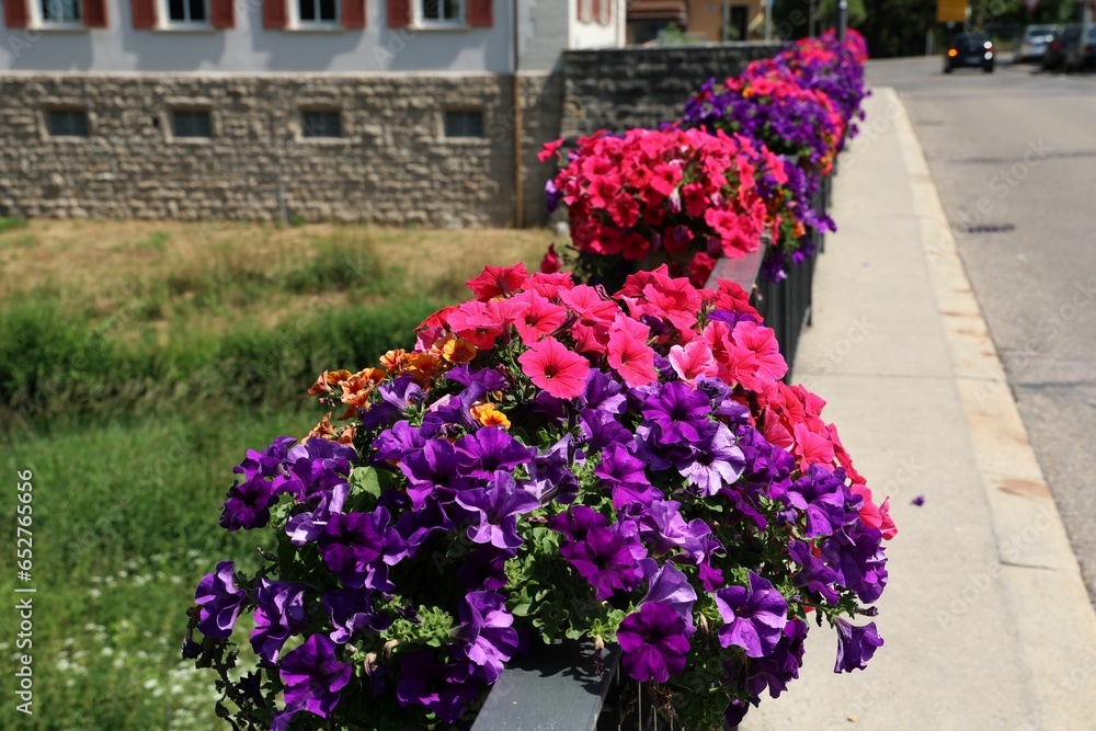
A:
[[[0,0],[0,215],[544,219],[624,0]]]

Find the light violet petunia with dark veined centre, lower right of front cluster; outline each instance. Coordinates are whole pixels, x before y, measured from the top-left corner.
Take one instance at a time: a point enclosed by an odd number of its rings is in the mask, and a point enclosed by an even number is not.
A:
[[[723,626],[719,643],[745,650],[747,658],[773,652],[788,624],[788,603],[768,580],[750,572],[747,586],[729,586],[716,592],[716,606]]]

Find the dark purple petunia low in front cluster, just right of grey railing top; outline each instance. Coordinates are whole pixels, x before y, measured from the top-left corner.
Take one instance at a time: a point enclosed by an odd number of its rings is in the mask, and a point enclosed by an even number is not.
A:
[[[685,620],[677,612],[659,602],[648,602],[625,617],[617,630],[624,671],[640,683],[665,683],[684,671],[688,654],[685,629]]]

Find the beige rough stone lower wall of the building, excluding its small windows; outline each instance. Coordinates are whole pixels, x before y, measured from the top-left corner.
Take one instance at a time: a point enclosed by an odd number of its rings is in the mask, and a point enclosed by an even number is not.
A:
[[[431,227],[514,219],[513,78],[498,75],[0,76],[0,215],[307,220]],[[558,76],[523,77],[527,224],[541,222],[539,145],[559,136]],[[45,111],[89,113],[54,138]],[[213,135],[172,139],[171,111],[212,112]],[[302,108],[342,136],[304,138]],[[443,112],[482,110],[482,138],[446,138]]]

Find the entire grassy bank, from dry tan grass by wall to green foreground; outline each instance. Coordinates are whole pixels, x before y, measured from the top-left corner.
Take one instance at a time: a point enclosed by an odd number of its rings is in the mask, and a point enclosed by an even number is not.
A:
[[[232,466],[316,423],[322,412],[305,390],[319,372],[408,344],[484,263],[535,264],[549,241],[545,231],[0,226],[0,540],[14,542],[14,473],[31,470],[37,590],[35,716],[9,706],[0,728],[221,728],[213,677],[179,647],[198,579],[255,548],[254,536],[217,525]],[[13,581],[0,576],[0,591],[12,595]],[[0,635],[0,656],[13,642]]]

